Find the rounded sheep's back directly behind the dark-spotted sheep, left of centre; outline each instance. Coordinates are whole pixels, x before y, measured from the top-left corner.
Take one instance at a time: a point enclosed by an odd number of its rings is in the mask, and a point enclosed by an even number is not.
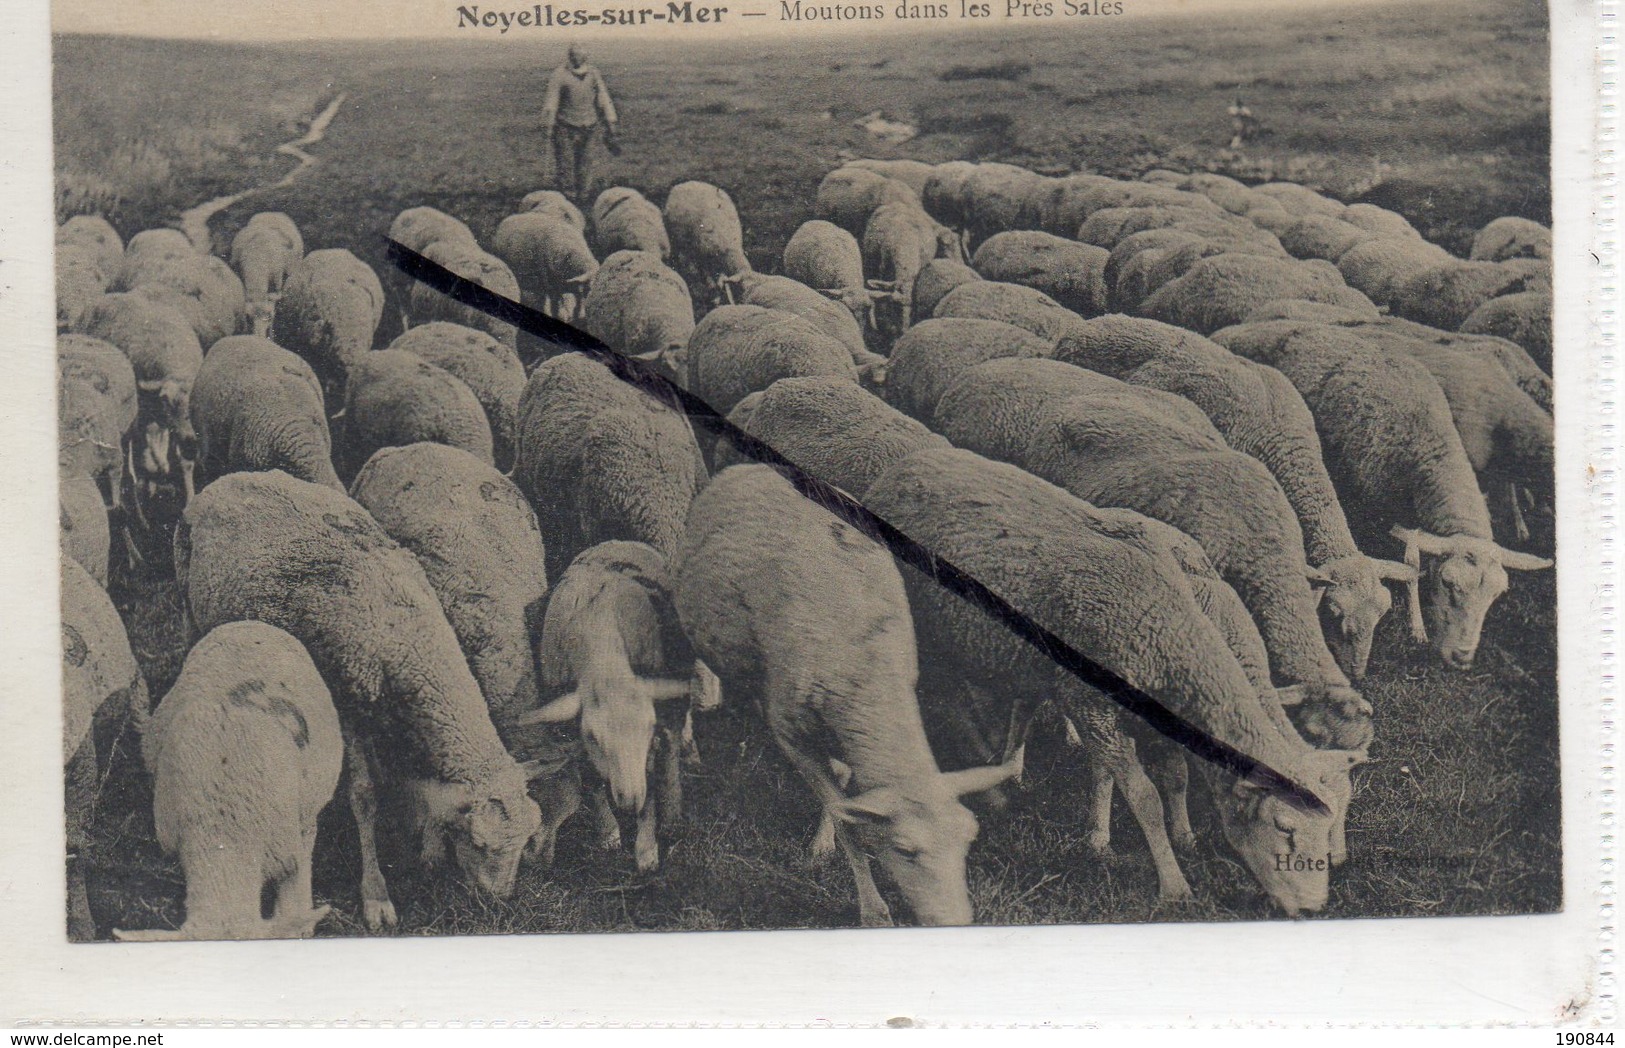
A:
[[[379,448],[424,440],[494,463],[486,409],[462,379],[405,349],[361,357],[344,390],[340,473],[353,478]]]

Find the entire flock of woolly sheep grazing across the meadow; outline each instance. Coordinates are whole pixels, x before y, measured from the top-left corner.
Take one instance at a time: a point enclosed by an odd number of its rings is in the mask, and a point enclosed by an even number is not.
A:
[[[489,250],[432,208],[390,236],[660,369],[1310,788],[1324,811],[1194,762],[1280,912],[1323,908],[1388,583],[1466,668],[1508,570],[1550,567],[1516,549],[1554,487],[1550,234],[1497,219],[1462,260],[1292,184],[972,162],[856,161],[814,206],[782,275],[702,182],[590,214],[541,190]],[[1121,791],[1160,899],[1190,897],[1180,746],[592,357],[306,253],[280,213],[229,263],[72,218],[57,271],[70,851],[135,721],[187,881],[179,929],[117,938],[312,934],[341,772],[372,929],[396,921],[382,790],[424,863],[494,895],[583,806],[611,847],[635,817],[652,869],[725,700],[816,795],[811,848],[850,861],[864,925],[890,923],[871,858],[915,921],[975,920],[962,798],[1020,775],[1050,702],[1087,760],[1090,850]],[[405,333],[379,348],[390,307]],[[195,643],[151,704],[106,587],[154,531]]]

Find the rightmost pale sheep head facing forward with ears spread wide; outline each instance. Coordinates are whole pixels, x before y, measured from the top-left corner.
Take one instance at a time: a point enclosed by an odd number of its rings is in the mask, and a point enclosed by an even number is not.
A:
[[[1484,617],[1506,591],[1508,570],[1552,567],[1545,557],[1497,546],[1472,535],[1438,536],[1415,528],[1393,530],[1406,544],[1406,564],[1417,569],[1410,583],[1410,634],[1427,642],[1453,669],[1471,669],[1484,634]],[[1422,570],[1422,554],[1433,557]]]

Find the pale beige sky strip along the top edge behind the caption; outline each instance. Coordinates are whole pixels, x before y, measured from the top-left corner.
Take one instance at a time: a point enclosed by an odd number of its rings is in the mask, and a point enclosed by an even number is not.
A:
[[[541,0],[546,3],[548,0]],[[655,8],[663,10],[666,0],[551,0],[556,8]],[[811,0],[808,0],[811,2]],[[817,0],[832,3],[835,0]],[[897,0],[840,0],[878,2],[889,8]],[[960,0],[947,0],[956,5]],[[1004,10],[1008,0],[990,0],[998,10]],[[1341,5],[1375,3],[1383,0],[1337,0]],[[302,39],[388,39],[388,37],[462,37],[462,39],[510,39],[536,42],[536,31],[512,28],[507,34],[497,29],[458,28],[458,6],[479,8],[484,11],[530,11],[536,0],[54,0],[52,28],[57,32],[114,32],[154,37],[187,37],[187,39],[221,39],[221,41],[302,41]],[[725,5],[734,18],[725,19],[722,26],[681,26],[676,29],[686,36],[715,39],[717,36],[733,36],[739,32],[767,32],[788,28],[775,15],[778,0],[696,0],[696,6]],[[1051,0],[1060,8],[1061,0]],[[1315,3],[1328,6],[1323,0],[1121,0],[1123,19],[1170,16],[1180,13],[1216,13],[1242,11],[1271,6],[1295,6]],[[765,18],[738,18],[739,11],[769,11]],[[1056,19],[1060,24],[1082,26],[1089,18],[1074,16]],[[879,23],[887,29],[900,29],[905,24],[887,19]],[[942,23],[938,23],[942,24]],[[964,28],[962,19],[951,19],[956,28]],[[994,19],[990,24],[1009,28],[1008,19]],[[806,23],[801,23],[803,28]],[[855,28],[869,29],[876,23],[821,23],[817,28]],[[652,29],[653,31],[653,29]],[[549,37],[557,32],[548,32]],[[598,36],[630,32],[626,29],[587,29],[580,36]],[[577,32],[572,31],[570,36]]]

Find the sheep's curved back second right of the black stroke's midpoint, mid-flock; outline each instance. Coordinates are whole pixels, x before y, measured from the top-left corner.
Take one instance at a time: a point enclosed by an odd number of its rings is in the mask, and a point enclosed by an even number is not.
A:
[[[892,346],[886,366],[886,400],[930,426],[936,401],[965,370],[993,357],[1045,357],[1053,353],[1051,341],[1003,320],[921,320]]]

